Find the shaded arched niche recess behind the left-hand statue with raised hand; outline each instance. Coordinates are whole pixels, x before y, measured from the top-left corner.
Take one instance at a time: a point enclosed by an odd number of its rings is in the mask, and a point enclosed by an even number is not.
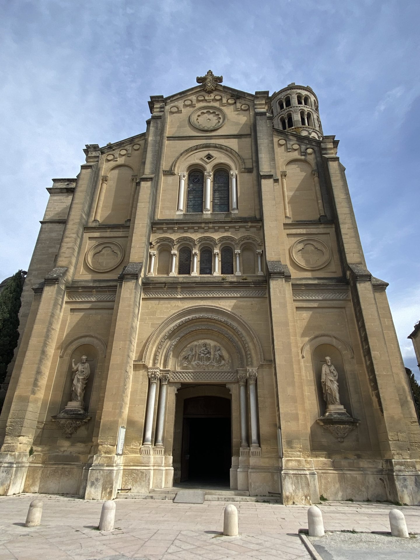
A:
[[[58,363],[57,382],[61,384],[60,402],[58,412],[64,409],[72,397],[73,372],[72,361],[77,364],[81,357],[87,356],[87,363],[90,367],[90,376],[87,380],[85,389],[85,410],[86,412],[96,412],[99,398],[99,375],[97,372],[104,370],[106,354],[106,344],[99,337],[82,335],[72,339],[60,352]]]

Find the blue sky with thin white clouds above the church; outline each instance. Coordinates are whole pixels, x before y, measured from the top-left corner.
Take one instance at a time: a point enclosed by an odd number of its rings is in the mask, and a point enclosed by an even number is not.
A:
[[[150,95],[195,85],[310,85],[340,140],[368,268],[404,362],[420,319],[418,0],[3,0],[0,281],[27,268],[54,177],[87,143],[143,132]]]

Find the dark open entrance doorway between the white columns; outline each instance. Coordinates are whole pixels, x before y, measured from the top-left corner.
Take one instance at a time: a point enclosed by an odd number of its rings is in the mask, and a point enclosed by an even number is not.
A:
[[[220,396],[185,399],[181,482],[226,484],[231,463],[230,400]]]

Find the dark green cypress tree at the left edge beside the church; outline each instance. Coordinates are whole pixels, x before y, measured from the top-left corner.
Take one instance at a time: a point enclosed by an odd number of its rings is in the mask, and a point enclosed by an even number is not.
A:
[[[18,270],[0,292],[0,384],[6,377],[19,338],[18,314],[25,275],[26,272]]]

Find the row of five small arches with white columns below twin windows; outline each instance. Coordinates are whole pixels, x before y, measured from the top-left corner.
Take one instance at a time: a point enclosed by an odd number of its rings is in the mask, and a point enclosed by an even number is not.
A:
[[[245,237],[242,241],[230,236],[219,240],[204,236],[197,241],[185,236],[176,242],[157,239],[153,242],[156,250],[150,251],[148,276],[263,276],[261,243]]]

